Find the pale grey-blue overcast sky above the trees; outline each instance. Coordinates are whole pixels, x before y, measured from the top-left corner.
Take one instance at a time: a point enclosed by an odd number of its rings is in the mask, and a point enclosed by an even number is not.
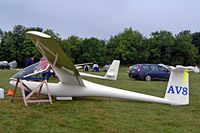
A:
[[[200,32],[200,0],[0,0],[0,29],[15,25],[109,39],[131,27],[144,36],[167,30]]]

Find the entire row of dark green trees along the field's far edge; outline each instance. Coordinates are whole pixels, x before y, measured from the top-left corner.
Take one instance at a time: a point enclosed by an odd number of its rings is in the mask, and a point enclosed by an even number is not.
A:
[[[118,59],[121,64],[164,63],[168,65],[197,65],[200,64],[200,32],[191,33],[189,30],[173,35],[169,31],[156,31],[145,37],[132,28],[111,36],[109,40],[95,37],[80,38],[72,35],[61,38],[51,29],[40,27],[25,27],[16,25],[12,31],[0,29],[0,60],[18,62],[23,67],[24,59],[34,54],[36,60],[41,54],[36,49],[27,31],[35,30],[53,36],[64,52],[77,63],[93,62],[100,65],[111,63]]]

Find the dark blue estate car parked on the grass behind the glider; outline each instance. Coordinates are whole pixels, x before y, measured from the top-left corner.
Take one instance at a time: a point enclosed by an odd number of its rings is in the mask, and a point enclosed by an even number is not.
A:
[[[136,64],[130,67],[129,77],[146,81],[168,80],[170,72],[158,64]]]

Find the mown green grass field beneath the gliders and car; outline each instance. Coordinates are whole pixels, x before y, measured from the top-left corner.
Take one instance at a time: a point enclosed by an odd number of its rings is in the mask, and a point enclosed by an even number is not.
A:
[[[134,81],[121,68],[117,81],[85,78],[107,86],[164,97],[166,81]],[[0,87],[13,88],[15,70],[0,70]],[[95,73],[96,74],[96,73]],[[98,73],[104,75],[103,72]],[[51,79],[55,81],[55,79]],[[171,106],[113,98],[81,97],[53,104],[0,100],[0,132],[200,132],[200,74],[190,74],[190,104]]]

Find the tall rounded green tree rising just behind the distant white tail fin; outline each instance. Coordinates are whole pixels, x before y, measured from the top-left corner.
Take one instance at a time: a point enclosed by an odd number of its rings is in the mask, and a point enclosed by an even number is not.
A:
[[[122,63],[139,63],[146,60],[144,37],[132,28],[126,28],[122,33],[111,37],[107,43],[107,55],[113,55],[113,59],[119,59]],[[112,60],[113,60],[112,59]]]

